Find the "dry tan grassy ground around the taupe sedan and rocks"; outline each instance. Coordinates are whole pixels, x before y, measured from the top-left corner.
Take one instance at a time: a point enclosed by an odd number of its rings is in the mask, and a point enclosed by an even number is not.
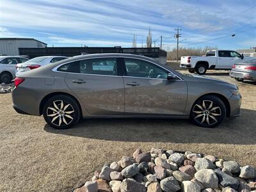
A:
[[[71,191],[104,163],[138,147],[190,150],[256,166],[256,83],[237,83],[221,71],[207,76],[237,84],[243,97],[241,116],[216,129],[188,120],[94,119],[59,131],[42,117],[19,115],[11,94],[0,94],[0,191]]]

